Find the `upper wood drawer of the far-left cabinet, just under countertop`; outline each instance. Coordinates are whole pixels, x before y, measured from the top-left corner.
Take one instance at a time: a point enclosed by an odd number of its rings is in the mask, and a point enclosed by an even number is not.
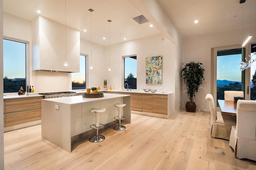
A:
[[[11,99],[5,101],[5,113],[41,108],[42,97]]]

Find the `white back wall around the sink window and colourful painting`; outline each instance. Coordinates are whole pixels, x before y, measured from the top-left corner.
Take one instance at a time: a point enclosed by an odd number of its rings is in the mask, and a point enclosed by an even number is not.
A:
[[[162,40],[164,39],[164,40]],[[105,58],[104,70],[107,71],[108,85],[118,86],[118,89],[122,89],[123,74],[122,74],[122,59],[123,56],[136,55],[137,56],[137,89],[143,91],[140,87],[146,86],[150,89],[157,89],[157,91],[174,92],[174,80],[173,75],[175,69],[170,67],[174,57],[174,45],[169,40],[165,39],[162,35],[151,36],[142,38],[139,40],[133,40],[129,42],[119,43],[110,46],[110,67],[112,71],[108,70],[108,55]],[[106,47],[106,53],[108,54],[108,47]],[[162,55],[162,85],[146,85],[146,57],[153,57]],[[164,87],[164,89],[160,89]],[[169,87],[170,90],[165,88]]]

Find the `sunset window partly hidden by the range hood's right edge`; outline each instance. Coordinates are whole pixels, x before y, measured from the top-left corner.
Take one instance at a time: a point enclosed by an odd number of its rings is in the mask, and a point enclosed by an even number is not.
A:
[[[72,73],[72,90],[86,89],[86,56],[80,55],[80,72]]]

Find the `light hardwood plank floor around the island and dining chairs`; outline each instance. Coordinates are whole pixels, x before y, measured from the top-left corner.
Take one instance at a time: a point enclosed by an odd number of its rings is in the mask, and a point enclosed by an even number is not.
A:
[[[41,137],[41,125],[4,133],[5,170],[256,170],[234,158],[228,140],[210,136],[210,113],[182,111],[170,119],[132,114],[126,130],[74,144],[69,153]],[[122,122],[122,124],[125,124]]]

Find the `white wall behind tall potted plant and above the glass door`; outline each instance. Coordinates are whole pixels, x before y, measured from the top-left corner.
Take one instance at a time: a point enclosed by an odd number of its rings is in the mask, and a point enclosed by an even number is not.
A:
[[[256,34],[256,28],[252,28],[252,35]],[[184,64],[190,61],[203,63],[202,67],[205,69],[203,88],[199,89],[196,93],[196,99],[194,102],[198,103],[197,110],[210,111],[208,103],[205,102],[205,96],[207,93],[211,93],[211,48],[238,45],[241,42],[241,30],[234,32],[222,32],[219,34],[211,34],[204,36],[195,36],[186,38],[183,40],[183,62]],[[256,42],[256,37],[252,37],[250,42]],[[184,66],[184,65],[183,65]],[[183,108],[188,101],[186,94],[186,86],[183,83],[183,96],[182,96]]]

